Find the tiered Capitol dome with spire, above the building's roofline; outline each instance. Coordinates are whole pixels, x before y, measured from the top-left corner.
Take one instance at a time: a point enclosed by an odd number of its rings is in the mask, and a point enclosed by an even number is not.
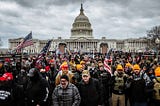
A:
[[[75,18],[74,23],[72,24],[71,39],[80,37],[93,39],[91,23],[83,11],[83,5],[81,4],[80,14]]]

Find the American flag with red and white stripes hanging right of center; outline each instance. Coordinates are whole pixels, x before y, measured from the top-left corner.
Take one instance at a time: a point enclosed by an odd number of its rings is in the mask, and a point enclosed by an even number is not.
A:
[[[111,75],[112,75],[112,69],[111,69],[111,67],[108,65],[108,63],[109,62],[112,62],[112,58],[111,58],[111,52],[112,52],[112,49],[110,49],[109,51],[108,51],[108,53],[106,54],[106,57],[105,57],[105,59],[104,59],[104,69],[106,70],[106,71],[108,71]]]

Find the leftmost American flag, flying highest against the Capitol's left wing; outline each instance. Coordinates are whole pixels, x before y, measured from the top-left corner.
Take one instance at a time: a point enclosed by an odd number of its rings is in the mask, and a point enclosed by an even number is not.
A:
[[[33,45],[32,41],[32,32],[30,32],[22,41],[21,43],[16,47],[16,50],[20,50],[21,48],[27,47]]]

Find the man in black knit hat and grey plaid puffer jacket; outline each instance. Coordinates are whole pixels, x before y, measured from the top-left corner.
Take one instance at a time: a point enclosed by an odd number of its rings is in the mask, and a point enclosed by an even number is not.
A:
[[[52,106],[79,106],[81,97],[77,87],[69,82],[67,75],[60,77],[60,84],[52,94]]]

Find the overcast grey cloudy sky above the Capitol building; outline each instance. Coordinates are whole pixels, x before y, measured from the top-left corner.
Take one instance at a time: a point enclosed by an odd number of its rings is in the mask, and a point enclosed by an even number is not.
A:
[[[160,25],[159,0],[0,0],[0,38],[69,38],[83,2],[94,38],[126,39],[146,36]]]

